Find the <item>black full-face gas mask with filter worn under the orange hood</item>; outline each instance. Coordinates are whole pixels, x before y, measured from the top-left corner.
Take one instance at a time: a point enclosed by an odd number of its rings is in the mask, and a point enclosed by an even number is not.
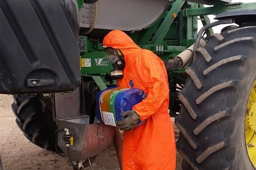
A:
[[[111,79],[115,80],[118,78],[123,78],[125,62],[121,50],[108,47],[104,50],[104,52],[105,56],[108,58],[109,62],[111,62],[112,66],[114,67],[114,69],[110,71]]]

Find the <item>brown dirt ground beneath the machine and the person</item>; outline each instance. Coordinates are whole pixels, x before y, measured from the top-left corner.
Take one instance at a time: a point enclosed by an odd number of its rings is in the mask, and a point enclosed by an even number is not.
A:
[[[37,147],[26,139],[16,125],[11,104],[12,96],[0,94],[0,155],[4,170],[72,170],[68,158]],[[178,137],[178,129],[175,129]],[[176,160],[176,170],[182,170],[178,152]],[[120,170],[114,144],[97,155],[85,170]]]

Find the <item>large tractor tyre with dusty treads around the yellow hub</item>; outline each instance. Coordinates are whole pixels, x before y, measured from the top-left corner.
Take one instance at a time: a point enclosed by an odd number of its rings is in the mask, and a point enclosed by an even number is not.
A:
[[[254,136],[256,131],[255,119],[248,116],[248,99],[256,88],[256,27],[212,34],[206,40],[204,48],[196,49],[178,93],[182,104],[175,119],[180,130],[176,147],[184,158],[182,168],[255,170],[248,151],[256,143],[247,133]]]

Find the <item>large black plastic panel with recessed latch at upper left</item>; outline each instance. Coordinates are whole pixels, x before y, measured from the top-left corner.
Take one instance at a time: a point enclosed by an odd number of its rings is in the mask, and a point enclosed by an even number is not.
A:
[[[60,92],[80,85],[73,0],[0,1],[0,93]]]

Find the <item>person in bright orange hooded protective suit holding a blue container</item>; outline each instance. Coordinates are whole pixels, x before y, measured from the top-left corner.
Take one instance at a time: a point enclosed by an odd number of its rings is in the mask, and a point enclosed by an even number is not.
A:
[[[169,88],[164,62],[152,51],[137,46],[123,31],[110,31],[103,46],[120,50],[124,57],[124,75],[117,79],[117,85],[138,88],[147,95],[133,110],[122,112],[126,118],[116,123],[124,130],[123,170],[175,170],[176,146],[168,114]],[[144,123],[136,126],[139,120]]]

